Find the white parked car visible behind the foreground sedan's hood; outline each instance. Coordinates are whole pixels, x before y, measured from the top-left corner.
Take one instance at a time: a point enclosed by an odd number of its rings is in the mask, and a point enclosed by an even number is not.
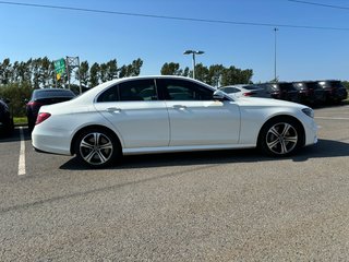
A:
[[[246,97],[264,97],[272,98],[270,93],[265,88],[257,85],[240,84],[240,85],[228,85],[219,87],[220,91],[226,92],[228,95],[233,95],[236,97],[246,96]]]

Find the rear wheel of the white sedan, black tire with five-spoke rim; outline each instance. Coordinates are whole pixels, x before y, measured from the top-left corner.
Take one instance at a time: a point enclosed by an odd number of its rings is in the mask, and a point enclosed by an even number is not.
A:
[[[75,141],[76,157],[89,167],[111,165],[121,156],[121,147],[115,134],[104,129],[83,131]]]

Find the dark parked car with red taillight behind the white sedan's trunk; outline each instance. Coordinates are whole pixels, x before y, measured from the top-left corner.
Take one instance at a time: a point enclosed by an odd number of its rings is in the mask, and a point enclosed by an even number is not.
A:
[[[26,117],[28,120],[29,130],[34,129],[38,111],[41,106],[52,105],[75,97],[75,94],[70,90],[62,88],[43,88],[34,90],[31,100],[26,104]]]

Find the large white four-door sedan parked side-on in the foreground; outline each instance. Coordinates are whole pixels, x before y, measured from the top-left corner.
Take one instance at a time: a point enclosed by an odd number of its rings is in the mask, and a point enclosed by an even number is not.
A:
[[[313,110],[265,98],[233,98],[181,76],[137,76],[100,84],[40,108],[38,152],[74,155],[93,167],[122,155],[260,147],[272,156],[317,142]]]

